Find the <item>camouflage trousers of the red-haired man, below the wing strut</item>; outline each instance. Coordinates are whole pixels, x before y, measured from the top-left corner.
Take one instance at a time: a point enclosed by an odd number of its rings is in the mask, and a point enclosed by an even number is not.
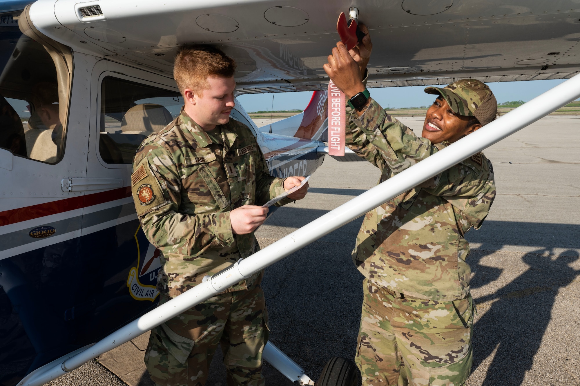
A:
[[[227,385],[263,386],[267,340],[266,302],[255,284],[218,294],[151,330],[145,365],[158,385],[203,386],[221,343]]]

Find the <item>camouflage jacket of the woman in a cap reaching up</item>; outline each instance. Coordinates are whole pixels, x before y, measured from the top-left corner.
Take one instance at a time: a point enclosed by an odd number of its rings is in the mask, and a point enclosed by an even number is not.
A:
[[[346,144],[382,171],[379,183],[445,147],[417,137],[374,100],[360,117],[349,112]],[[395,292],[465,298],[471,270],[463,235],[481,227],[494,197],[491,162],[478,153],[368,212],[354,263],[372,282]]]

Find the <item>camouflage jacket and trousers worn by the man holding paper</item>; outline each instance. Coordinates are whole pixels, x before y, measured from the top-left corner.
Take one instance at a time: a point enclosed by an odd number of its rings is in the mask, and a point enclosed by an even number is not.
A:
[[[231,82],[235,85],[233,78]],[[140,223],[147,239],[161,250],[161,304],[259,250],[253,231],[234,234],[230,214],[284,192],[285,180],[270,176],[247,126],[229,119],[204,130],[184,108],[166,128],[144,140],[133,170]],[[145,362],[153,381],[204,385],[221,343],[227,383],[263,385],[268,328],[261,279],[262,272],[151,330]]]

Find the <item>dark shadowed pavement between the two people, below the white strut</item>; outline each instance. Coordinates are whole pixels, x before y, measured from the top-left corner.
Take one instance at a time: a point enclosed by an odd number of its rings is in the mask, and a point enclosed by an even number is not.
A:
[[[333,356],[354,359],[362,275],[347,243],[317,241],[266,268],[270,340],[317,380]]]

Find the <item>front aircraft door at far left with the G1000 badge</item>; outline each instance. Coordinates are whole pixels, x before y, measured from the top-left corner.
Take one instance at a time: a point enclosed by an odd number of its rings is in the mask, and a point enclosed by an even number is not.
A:
[[[26,14],[20,28],[8,18],[0,26],[0,367],[24,375],[72,348],[64,315],[82,266],[84,192],[62,181],[85,177],[83,72],[94,61],[39,34]]]

